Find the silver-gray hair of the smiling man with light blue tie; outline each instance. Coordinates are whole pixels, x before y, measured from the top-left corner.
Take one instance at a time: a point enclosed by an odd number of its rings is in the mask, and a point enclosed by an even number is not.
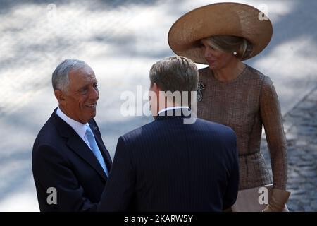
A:
[[[63,92],[68,91],[69,85],[69,72],[71,70],[82,69],[88,66],[85,61],[79,59],[66,59],[59,64],[51,76],[51,83],[53,89],[61,90]]]

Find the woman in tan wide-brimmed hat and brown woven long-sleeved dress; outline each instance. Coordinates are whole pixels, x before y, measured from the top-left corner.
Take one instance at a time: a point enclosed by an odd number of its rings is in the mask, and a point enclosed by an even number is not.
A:
[[[272,196],[265,210],[282,211],[290,193],[280,104],[271,79],[242,63],[259,54],[272,36],[270,20],[237,3],[196,8],[168,33],[173,51],[209,67],[199,70],[197,116],[230,126],[237,134],[240,190],[271,184],[260,152],[262,126],[271,154]]]

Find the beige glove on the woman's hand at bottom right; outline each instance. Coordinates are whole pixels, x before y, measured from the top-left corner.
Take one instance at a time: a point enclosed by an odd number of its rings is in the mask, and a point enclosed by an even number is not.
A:
[[[262,212],[282,212],[287,203],[288,197],[290,197],[290,192],[272,189],[272,196],[270,201],[268,201],[268,206]]]

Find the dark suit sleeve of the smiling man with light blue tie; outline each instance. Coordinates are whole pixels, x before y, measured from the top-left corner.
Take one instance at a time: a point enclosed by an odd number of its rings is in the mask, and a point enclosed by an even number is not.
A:
[[[56,148],[40,145],[32,156],[32,169],[37,187],[41,211],[94,211],[97,203],[91,203],[84,195],[69,163]],[[57,203],[48,203],[56,189]]]

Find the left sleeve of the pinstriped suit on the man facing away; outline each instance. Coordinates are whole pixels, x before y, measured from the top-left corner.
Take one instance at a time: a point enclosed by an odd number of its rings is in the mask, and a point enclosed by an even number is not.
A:
[[[113,166],[101,196],[98,210],[122,212],[130,210],[135,194],[135,171],[123,137],[118,139]]]

